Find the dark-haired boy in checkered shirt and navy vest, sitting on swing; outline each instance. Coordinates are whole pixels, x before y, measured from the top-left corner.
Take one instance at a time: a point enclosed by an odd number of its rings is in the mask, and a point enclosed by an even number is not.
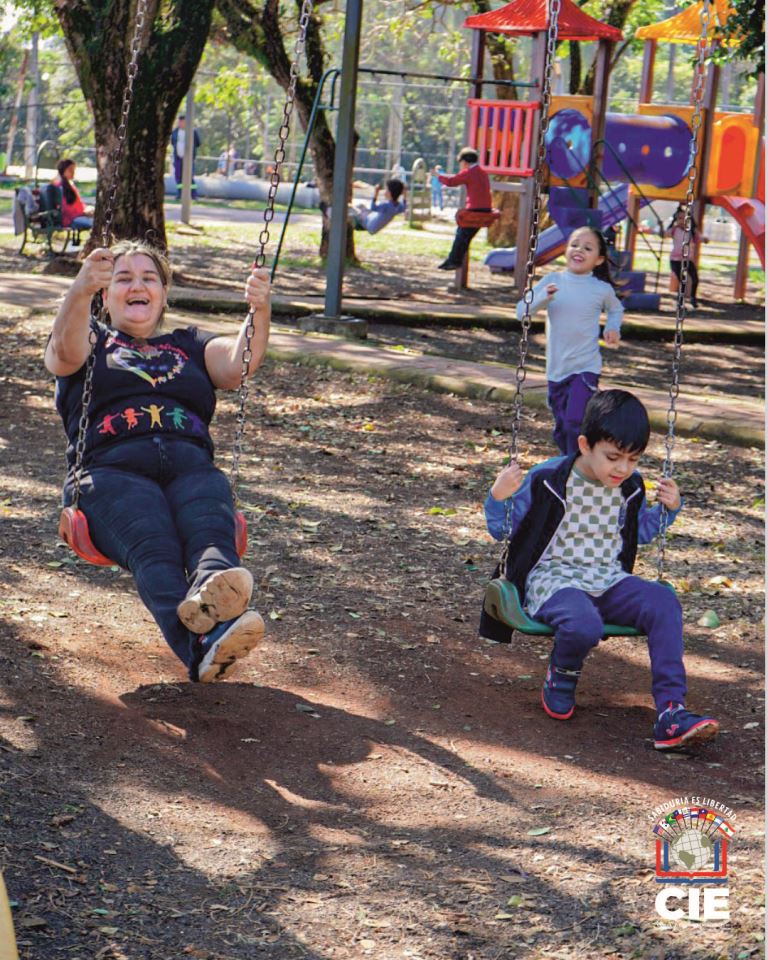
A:
[[[485,517],[491,536],[509,537],[507,579],[529,614],[555,634],[541,691],[548,716],[573,716],[581,668],[603,624],[636,627],[648,638],[654,746],[669,750],[709,740],[720,726],[685,708],[677,597],[661,583],[632,575],[638,543],[650,543],[660,531],[661,504],[669,523],[682,506],[671,477],[659,481],[659,503],[645,504],[636,467],[650,432],[646,409],[631,393],[596,393],[584,414],[578,453],[538,464],[525,479],[512,461],[494,481]]]

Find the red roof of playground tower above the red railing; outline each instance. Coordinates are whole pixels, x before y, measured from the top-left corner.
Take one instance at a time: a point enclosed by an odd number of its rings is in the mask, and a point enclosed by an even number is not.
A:
[[[476,13],[467,17],[464,26],[488,33],[506,33],[516,37],[530,37],[546,30],[549,25],[547,0],[512,0],[498,10]],[[621,40],[618,27],[609,27],[584,13],[573,0],[560,0],[558,40]]]

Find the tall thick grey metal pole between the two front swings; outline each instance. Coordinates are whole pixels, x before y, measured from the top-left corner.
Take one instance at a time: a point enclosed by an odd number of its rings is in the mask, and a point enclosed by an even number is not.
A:
[[[325,316],[341,317],[341,287],[347,249],[347,202],[355,158],[355,100],[357,66],[360,59],[360,28],[363,0],[347,0],[344,23],[344,51],[341,60],[339,122],[336,128],[336,163],[333,169],[331,230],[328,241]]]

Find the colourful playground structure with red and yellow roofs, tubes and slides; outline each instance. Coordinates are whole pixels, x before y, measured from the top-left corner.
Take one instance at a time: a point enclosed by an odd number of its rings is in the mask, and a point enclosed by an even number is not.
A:
[[[658,249],[640,231],[638,215],[653,200],[685,198],[691,149],[693,107],[654,104],[653,65],[659,40],[697,45],[701,42],[701,2],[662,23],[644,27],[637,36],[646,40],[644,67],[637,114],[607,112],[610,56],[621,32],[589,17],[572,0],[562,0],[558,39],[597,40],[597,70],[592,96],[555,96],[551,100],[546,140],[548,211],[555,225],[542,231],[537,244],[537,264],[559,256],[569,233],[590,224],[600,230],[627,221],[626,249],[619,255],[619,281],[628,292],[626,303],[635,309],[657,309],[658,292],[645,292],[646,276],[632,270],[638,239],[656,259],[656,287],[661,270],[662,223],[656,217]],[[728,16],[725,0],[712,4],[713,17]],[[532,80],[541,76],[548,25],[545,0],[512,0],[490,13],[468,17],[465,26],[475,31],[472,74],[482,78],[485,34],[530,36],[534,43]],[[710,61],[705,78],[703,122],[698,131],[701,177],[695,184],[696,216],[701,223],[707,203],[723,207],[739,223],[739,248],[735,296],[743,298],[748,274],[747,243],[751,242],[765,265],[765,207],[763,171],[765,148],[761,135],[764,114],[764,83],[761,78],[754,114],[716,111],[719,67]],[[518,243],[511,250],[494,250],[486,258],[493,272],[514,272],[523,287],[524,249],[532,197],[535,158],[533,144],[539,122],[540,103],[468,100],[467,142],[480,155],[480,164],[492,176],[494,189],[520,195]],[[759,162],[758,162],[759,158]],[[654,214],[655,215],[655,214]]]

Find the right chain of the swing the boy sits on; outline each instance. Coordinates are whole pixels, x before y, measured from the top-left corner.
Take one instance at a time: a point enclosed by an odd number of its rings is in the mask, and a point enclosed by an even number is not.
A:
[[[701,5],[701,38],[698,45],[698,57],[693,84],[693,117],[691,119],[691,159],[688,167],[688,188],[684,201],[685,221],[683,225],[682,259],[680,261],[680,284],[677,288],[677,310],[675,316],[675,337],[672,352],[672,378],[669,385],[669,408],[667,410],[667,435],[664,438],[664,463],[661,469],[663,477],[671,477],[674,472],[672,453],[675,447],[675,425],[677,423],[677,400],[680,396],[680,362],[683,349],[683,326],[685,324],[686,306],[685,293],[688,286],[688,267],[691,259],[691,243],[693,242],[693,205],[696,200],[696,180],[699,175],[699,130],[702,124],[702,101],[704,93],[705,70],[704,61],[707,53],[707,36],[710,23],[710,0],[704,0]],[[661,505],[658,543],[658,578],[664,578],[664,560],[667,548],[667,530],[669,528],[669,511]]]

